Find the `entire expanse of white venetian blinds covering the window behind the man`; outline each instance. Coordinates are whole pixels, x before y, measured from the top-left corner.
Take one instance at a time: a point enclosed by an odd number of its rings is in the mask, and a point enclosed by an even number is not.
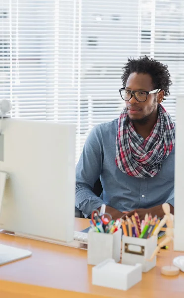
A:
[[[0,99],[12,117],[76,123],[76,160],[91,128],[122,110],[127,58],[145,54],[168,64],[175,118],[183,0],[0,0]]]

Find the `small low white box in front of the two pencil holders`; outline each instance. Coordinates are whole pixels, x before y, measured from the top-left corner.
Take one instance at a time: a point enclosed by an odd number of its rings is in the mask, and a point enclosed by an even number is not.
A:
[[[128,290],[142,279],[142,265],[122,265],[108,259],[92,268],[92,285]]]

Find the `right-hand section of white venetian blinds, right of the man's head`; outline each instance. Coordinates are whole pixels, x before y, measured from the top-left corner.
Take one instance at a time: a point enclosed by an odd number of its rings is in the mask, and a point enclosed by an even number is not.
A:
[[[175,120],[184,86],[184,1],[142,0],[140,54],[168,65],[173,85],[164,106]]]

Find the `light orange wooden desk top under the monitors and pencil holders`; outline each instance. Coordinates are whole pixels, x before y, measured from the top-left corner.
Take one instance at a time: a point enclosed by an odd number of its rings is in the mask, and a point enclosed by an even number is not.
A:
[[[88,223],[76,219],[76,229]],[[0,234],[0,243],[33,252],[30,258],[0,267],[0,298],[184,298],[184,273],[174,278],[160,274],[160,268],[169,264],[169,250],[161,250],[157,266],[123,292],[92,286],[92,266],[87,265],[85,250],[5,234]],[[172,259],[181,254],[173,252]]]

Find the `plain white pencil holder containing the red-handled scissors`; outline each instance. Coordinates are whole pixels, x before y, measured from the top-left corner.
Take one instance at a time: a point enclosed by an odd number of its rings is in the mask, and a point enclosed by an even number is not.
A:
[[[121,256],[121,229],[113,234],[88,233],[88,264],[97,265],[106,259],[120,261]]]

